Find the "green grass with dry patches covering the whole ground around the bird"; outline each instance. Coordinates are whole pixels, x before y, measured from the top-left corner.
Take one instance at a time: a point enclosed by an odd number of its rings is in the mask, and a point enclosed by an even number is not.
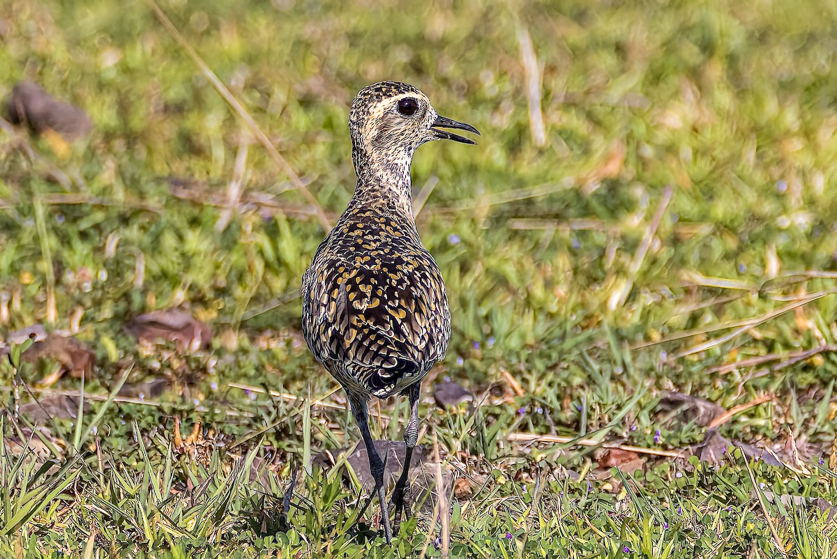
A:
[[[0,366],[0,555],[837,556],[832,5],[161,8],[332,221],[363,85],[419,85],[482,132],[413,162],[454,323],[430,384],[479,403],[421,409],[420,442],[461,480],[450,541],[432,515],[392,546],[348,533],[357,485],[306,474],[357,438],[300,344],[316,205],[148,4],[7,0],[0,94],[35,79],[95,126],[64,149],[0,132],[0,326],[77,323],[96,366],[52,387],[78,419],[40,428],[12,412],[54,397],[30,393],[54,365]],[[213,326],[208,350],[123,331],[172,306]],[[159,397],[117,396],[161,377]],[[665,391],[737,411],[718,435],[784,465],[721,447],[701,461],[698,404],[668,411]],[[177,439],[176,418],[202,437]],[[401,423],[374,429],[398,439]]]

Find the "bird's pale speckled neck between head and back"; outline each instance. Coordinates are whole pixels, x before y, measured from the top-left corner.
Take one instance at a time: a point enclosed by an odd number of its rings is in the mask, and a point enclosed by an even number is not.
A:
[[[413,192],[410,182],[412,153],[393,157],[375,156],[360,149],[352,150],[357,173],[353,203],[365,202],[392,206],[398,213],[413,219]]]

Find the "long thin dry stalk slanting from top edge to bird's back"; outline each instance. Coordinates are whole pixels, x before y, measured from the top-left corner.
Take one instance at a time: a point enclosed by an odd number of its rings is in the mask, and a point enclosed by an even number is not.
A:
[[[174,26],[172,20],[170,20],[165,13],[163,13],[162,9],[157,5],[155,0],[147,0],[149,7],[157,16],[157,19],[163,24],[172,35],[172,38],[181,46],[181,48],[186,51],[186,54],[189,55],[189,58],[195,63],[196,66],[203,72],[204,77],[208,79],[209,83],[213,85],[216,91],[218,91],[218,95],[223,97],[223,100],[227,101],[227,104],[234,110],[234,112],[239,115],[239,118],[244,121],[244,124],[247,125],[250,132],[255,136],[255,138],[259,141],[259,143],[264,146],[264,149],[270,154],[270,157],[275,162],[276,166],[279,167],[285,175],[290,178],[290,182],[294,185],[296,190],[302,194],[303,197],[306,198],[308,203],[311,204],[314,208],[316,208],[317,218],[319,218],[320,223],[326,232],[331,231],[331,223],[329,222],[328,218],[326,218],[326,213],[322,211],[322,207],[320,203],[316,201],[316,197],[311,194],[311,191],[308,190],[308,187],[300,180],[299,175],[290,167],[290,164],[285,160],[279,150],[276,149],[276,146],[273,145],[273,142],[270,141],[270,138],[264,134],[264,131],[259,127],[259,124],[255,121],[252,115],[244,109],[244,105],[239,103],[239,100],[235,98],[235,95],[229,90],[229,88],[223,84],[218,75],[216,75],[209,65],[203,61],[198,51],[193,49],[192,45],[189,44],[182,36],[180,31]]]

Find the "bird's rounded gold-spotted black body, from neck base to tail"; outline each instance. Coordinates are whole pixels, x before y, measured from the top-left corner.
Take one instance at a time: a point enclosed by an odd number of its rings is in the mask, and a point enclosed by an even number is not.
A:
[[[411,218],[344,214],[317,249],[302,295],[306,342],[350,393],[399,392],[447,351],[442,275]]]

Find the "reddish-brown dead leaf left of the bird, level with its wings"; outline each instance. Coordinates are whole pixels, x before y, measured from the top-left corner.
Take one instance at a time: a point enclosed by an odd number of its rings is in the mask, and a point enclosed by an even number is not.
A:
[[[135,316],[125,331],[140,341],[173,341],[191,350],[206,348],[212,342],[212,329],[187,312],[177,309],[154,310]]]

